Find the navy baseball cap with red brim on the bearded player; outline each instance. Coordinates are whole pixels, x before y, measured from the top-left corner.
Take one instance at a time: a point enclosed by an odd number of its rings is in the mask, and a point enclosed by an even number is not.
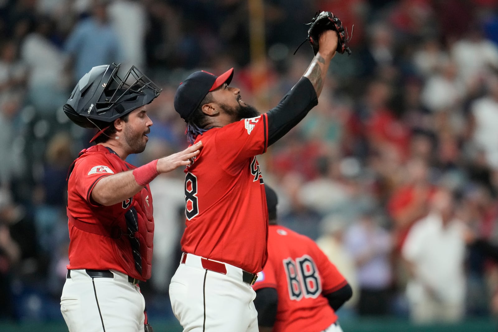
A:
[[[233,77],[234,68],[230,68],[220,76],[204,70],[191,74],[185,81],[180,83],[176,90],[175,111],[186,121],[210,91],[219,88],[224,83],[230,84]]]

